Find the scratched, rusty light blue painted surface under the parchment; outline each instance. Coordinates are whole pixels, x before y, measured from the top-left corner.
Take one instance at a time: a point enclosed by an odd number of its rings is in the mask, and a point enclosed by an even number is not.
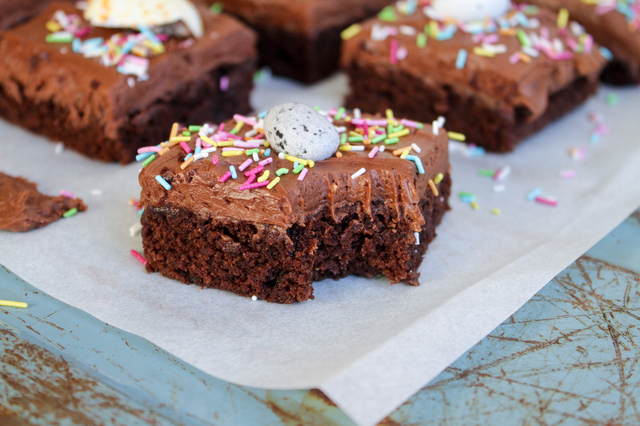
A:
[[[640,211],[383,424],[640,424]],[[0,423],[352,425],[318,391],[215,379],[0,270]]]

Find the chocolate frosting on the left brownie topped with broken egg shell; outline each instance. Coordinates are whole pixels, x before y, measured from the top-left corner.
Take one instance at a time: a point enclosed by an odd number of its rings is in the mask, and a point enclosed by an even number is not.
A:
[[[201,79],[205,70],[223,63],[240,64],[255,56],[256,36],[250,29],[231,16],[213,14],[201,5],[204,36],[194,39],[189,48],[181,47],[181,40],[170,39],[165,43],[165,53],[150,58],[148,81],[130,87],[130,76],[120,74],[115,67],[73,53],[69,43],[45,41],[49,34],[45,24],[56,10],[82,14],[72,4],[52,3],[24,25],[0,32],[0,87],[6,96],[21,102],[21,90],[35,86],[34,81],[41,82],[37,91],[27,94],[33,102],[67,105],[74,128],[99,126],[114,140],[119,138],[122,124],[135,120],[137,112],[174,97],[174,91]],[[83,39],[106,39],[121,31],[93,27]],[[184,85],[176,85],[176,81]]]

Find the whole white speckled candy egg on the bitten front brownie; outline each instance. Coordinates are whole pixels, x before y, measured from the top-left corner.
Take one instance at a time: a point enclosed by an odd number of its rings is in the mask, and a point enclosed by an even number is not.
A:
[[[264,117],[264,131],[278,153],[305,160],[326,160],[340,146],[336,127],[313,108],[297,103],[271,108]]]

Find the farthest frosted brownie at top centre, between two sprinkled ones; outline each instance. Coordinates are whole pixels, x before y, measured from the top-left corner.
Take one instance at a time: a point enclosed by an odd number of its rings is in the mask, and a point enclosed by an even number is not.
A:
[[[211,1],[218,3],[218,1]],[[340,33],[374,16],[392,0],[223,0],[259,34],[260,62],[274,74],[306,84],[337,71]]]

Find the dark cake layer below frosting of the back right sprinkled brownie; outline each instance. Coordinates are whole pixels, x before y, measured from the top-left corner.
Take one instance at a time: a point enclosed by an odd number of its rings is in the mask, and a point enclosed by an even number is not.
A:
[[[473,135],[468,141],[492,152],[510,152],[526,137],[580,106],[598,90],[598,74],[581,76],[568,86],[549,95],[545,112],[530,120],[526,107],[496,108],[477,94],[455,90],[451,85],[432,86],[398,68],[385,68],[357,62],[344,71],[350,79],[345,107],[358,106],[363,112],[391,109],[398,116],[410,116],[431,122],[439,116],[447,119],[447,128]],[[444,91],[446,96],[440,94]]]

